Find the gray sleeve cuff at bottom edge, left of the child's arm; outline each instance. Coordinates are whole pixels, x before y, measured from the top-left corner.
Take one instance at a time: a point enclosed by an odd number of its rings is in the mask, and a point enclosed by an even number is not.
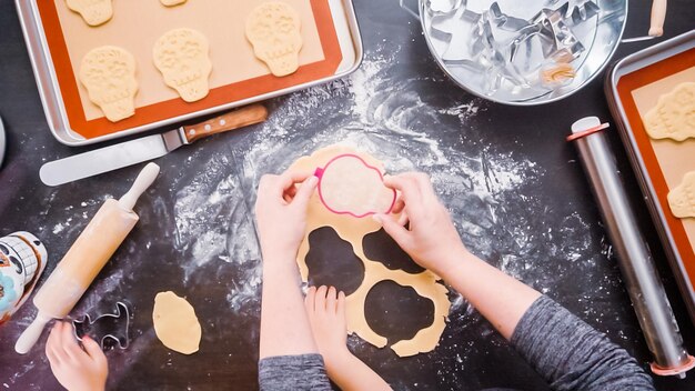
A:
[[[278,355],[259,361],[261,391],[331,391],[321,354]]]

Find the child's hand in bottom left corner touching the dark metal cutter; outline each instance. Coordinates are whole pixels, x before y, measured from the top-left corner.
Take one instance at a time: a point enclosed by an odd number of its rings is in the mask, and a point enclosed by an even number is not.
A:
[[[109,365],[101,347],[89,337],[82,347],[72,332],[72,325],[58,321],[46,343],[46,355],[58,382],[69,391],[104,390]]]

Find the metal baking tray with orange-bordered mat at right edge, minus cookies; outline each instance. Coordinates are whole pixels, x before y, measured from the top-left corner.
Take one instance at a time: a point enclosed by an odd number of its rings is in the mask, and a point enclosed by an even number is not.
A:
[[[667,194],[681,171],[695,170],[695,140],[652,140],[641,116],[677,83],[695,81],[695,30],[624,58],[606,76],[613,118],[695,324],[695,219],[677,219]],[[652,103],[651,107],[654,104]]]

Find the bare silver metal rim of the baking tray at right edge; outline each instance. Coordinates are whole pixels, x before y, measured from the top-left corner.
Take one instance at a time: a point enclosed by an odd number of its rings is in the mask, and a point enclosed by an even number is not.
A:
[[[636,53],[633,53],[613,66],[613,69],[607,73],[605,81],[606,97],[611,112],[614,119],[618,122],[621,129],[621,138],[625,150],[629,156],[629,160],[633,167],[633,171],[637,177],[642,192],[645,196],[646,204],[652,214],[652,221],[656,227],[659,234],[661,242],[666,252],[666,258],[671,265],[672,271],[676,274],[676,281],[681,293],[685,299],[692,322],[695,324],[695,289],[691,279],[695,279],[695,275],[689,275],[686,267],[683,262],[683,257],[678,251],[678,245],[672,233],[672,229],[666,222],[665,212],[658,202],[658,196],[656,189],[652,184],[652,178],[647,170],[646,163],[642,158],[637,142],[634,138],[634,131],[627,119],[625,108],[621,100],[617,84],[620,79],[635,72],[642,68],[652,66],[667,58],[683,53],[695,47],[695,30],[675,37],[671,40],[655,44]]]

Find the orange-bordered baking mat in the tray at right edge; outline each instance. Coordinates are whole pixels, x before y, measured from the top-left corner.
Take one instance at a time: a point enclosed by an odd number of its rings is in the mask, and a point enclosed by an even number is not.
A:
[[[683,176],[695,170],[695,139],[681,142],[653,140],[642,122],[642,118],[656,107],[659,97],[686,81],[695,81],[695,49],[623,76],[617,91],[637,144],[638,151],[635,152],[642,156],[683,265],[695,287],[695,219],[674,217],[667,199]]]

